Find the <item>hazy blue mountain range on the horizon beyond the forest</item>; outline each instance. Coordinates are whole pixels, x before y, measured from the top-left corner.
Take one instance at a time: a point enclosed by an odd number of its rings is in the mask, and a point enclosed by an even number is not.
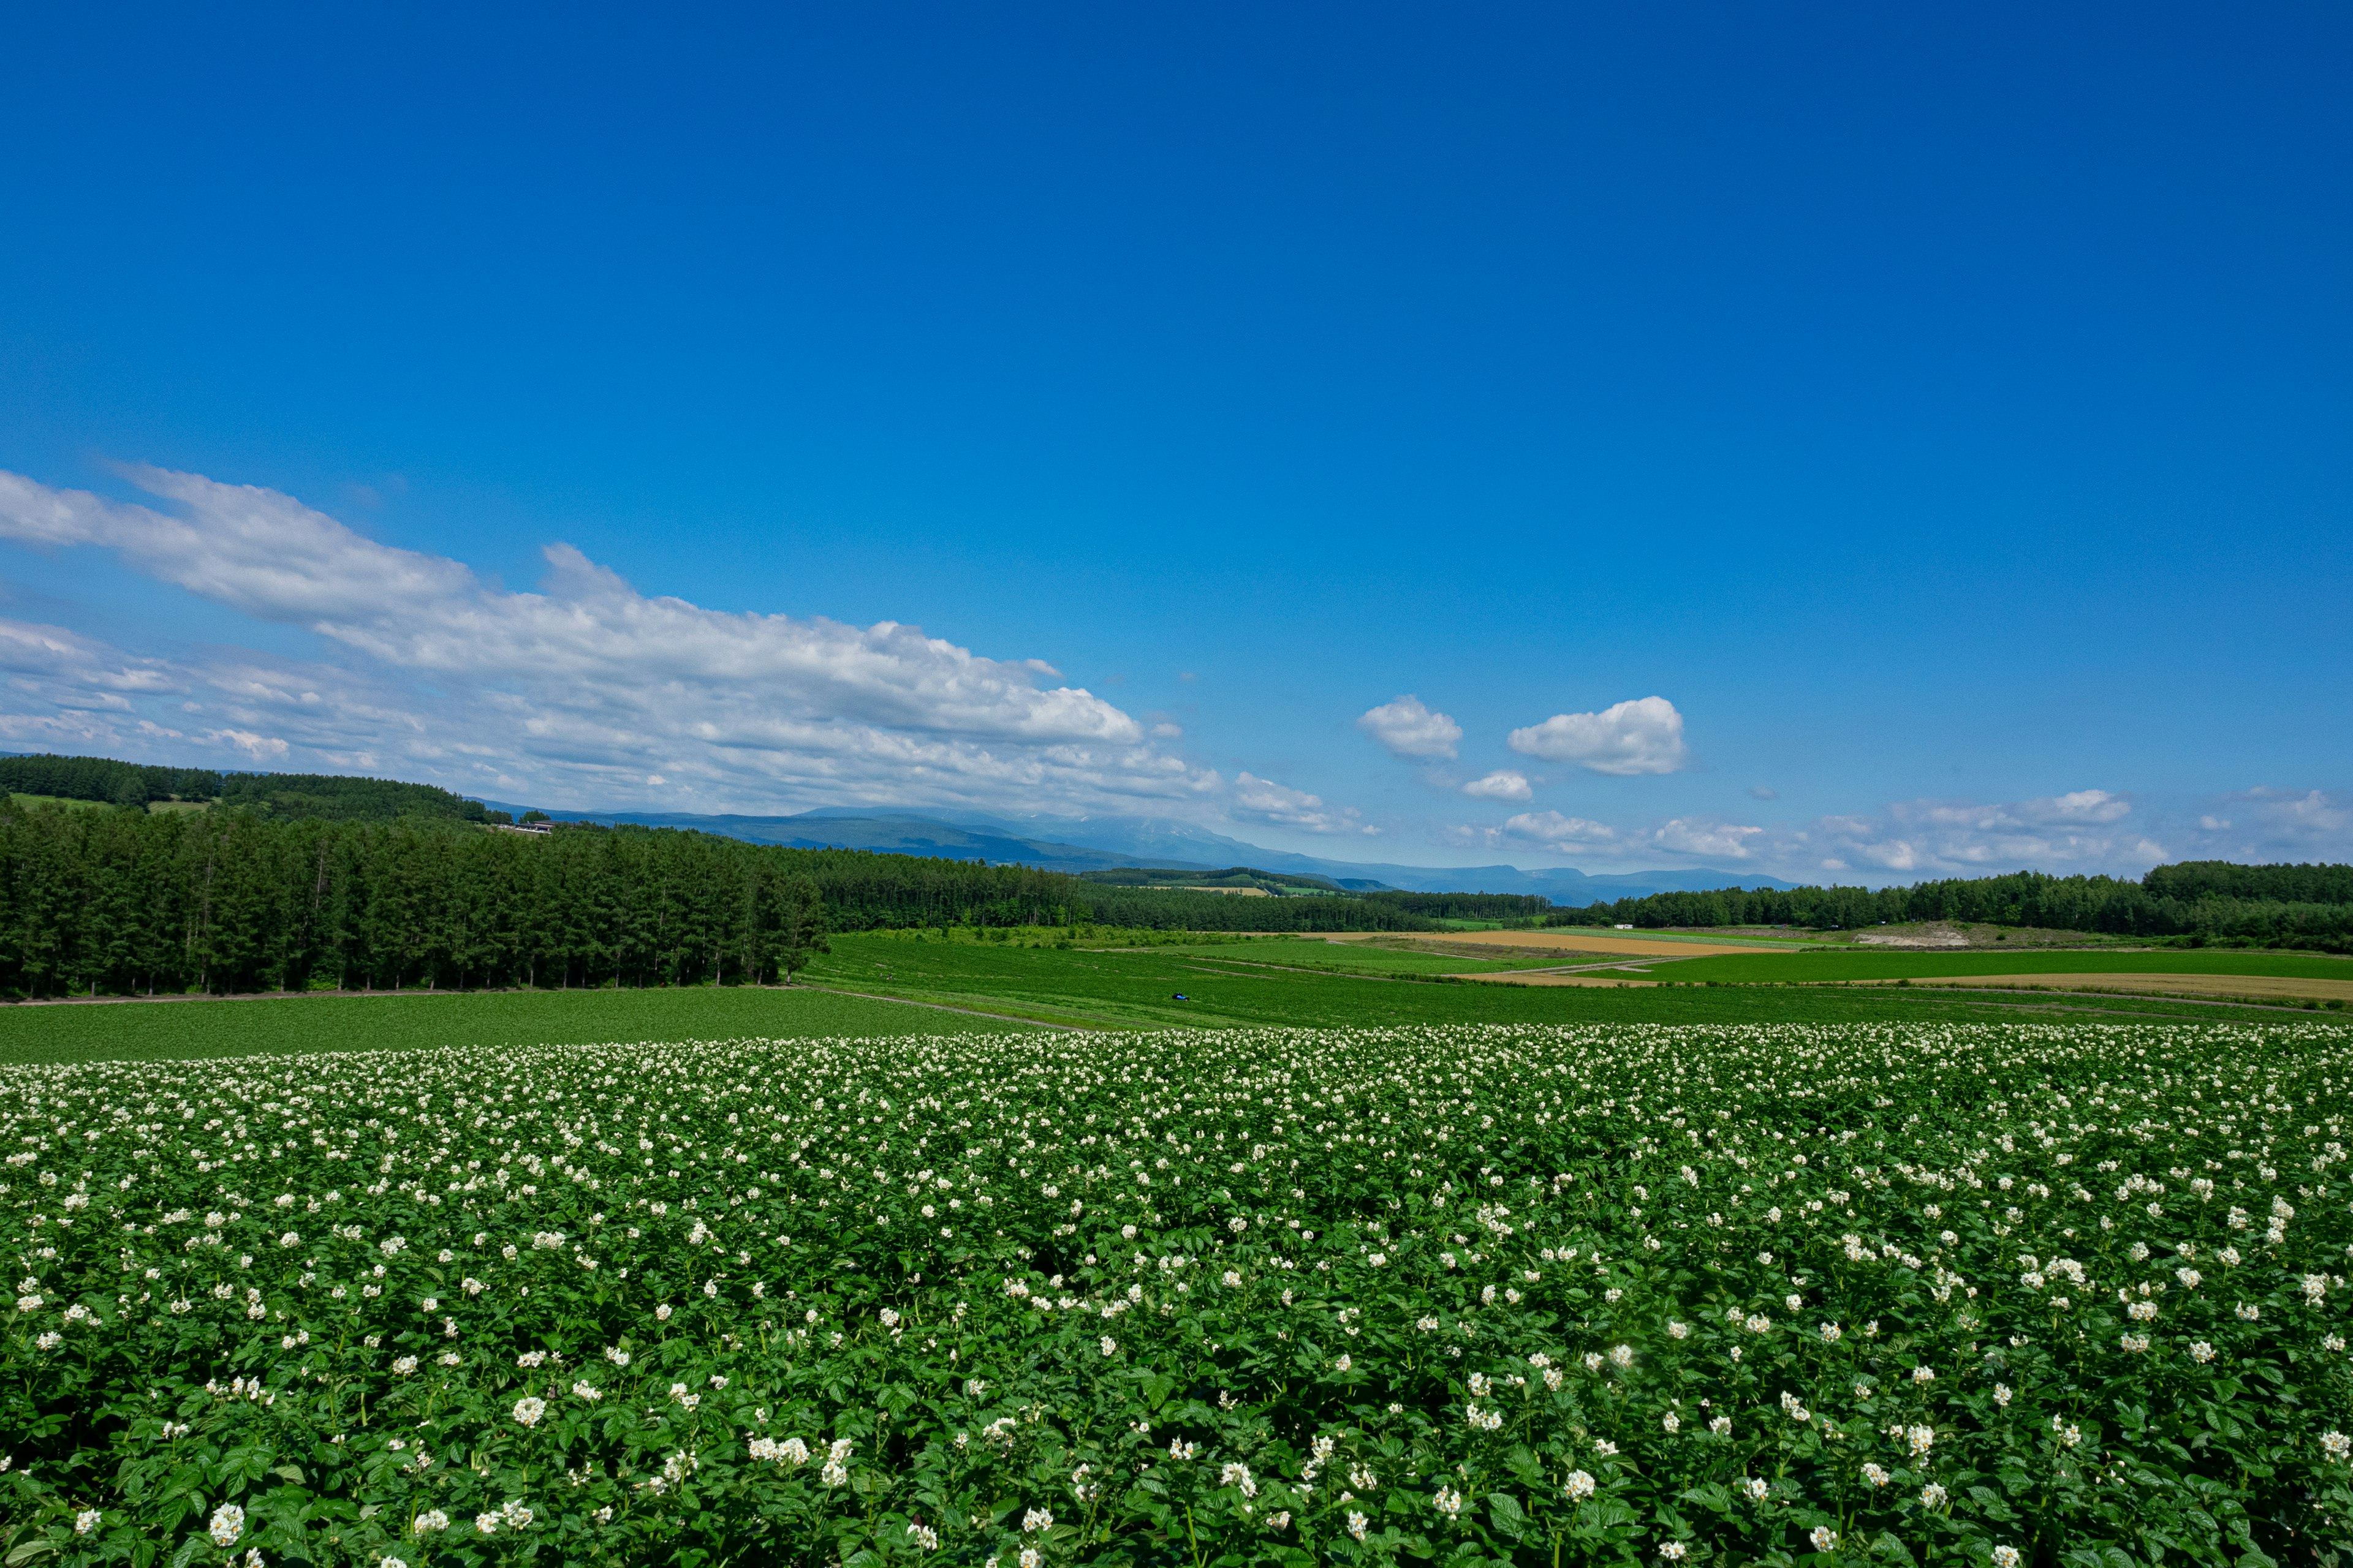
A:
[[[506,806],[506,802],[485,802]],[[1325,860],[1282,849],[1261,849],[1242,839],[1148,816],[1035,816],[1002,818],[984,813],[927,816],[918,811],[854,811],[826,806],[798,816],[694,816],[682,811],[548,811],[562,823],[640,823],[645,827],[696,827],[753,844],[791,849],[873,849],[899,856],[944,856],[951,860],[988,860],[991,865],[1035,865],[1049,872],[1096,872],[1122,865],[1165,870],[1224,870],[1249,865],[1266,872],[1329,877],[1351,891],[1402,889],[1409,893],[1541,893],[1560,905],[1588,905],[1612,898],[1699,891],[1720,886],[1788,889],[1793,882],[1725,872],[1713,867],[1614,872],[1588,877],[1560,865],[1520,870],[1518,865],[1388,865]]]

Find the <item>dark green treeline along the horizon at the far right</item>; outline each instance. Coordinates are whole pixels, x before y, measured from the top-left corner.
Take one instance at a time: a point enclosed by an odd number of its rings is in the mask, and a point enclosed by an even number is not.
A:
[[[2181,860],[2160,865],[2139,882],[2012,872],[1875,891],[1805,886],[1652,893],[1584,910],[1553,910],[1546,924],[1838,931],[1913,919],[2353,952],[2353,865]]]

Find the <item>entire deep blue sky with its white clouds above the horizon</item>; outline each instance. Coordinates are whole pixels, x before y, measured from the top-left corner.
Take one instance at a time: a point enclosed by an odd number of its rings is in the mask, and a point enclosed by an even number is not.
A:
[[[2341,7],[0,28],[0,745],[2353,858]]]

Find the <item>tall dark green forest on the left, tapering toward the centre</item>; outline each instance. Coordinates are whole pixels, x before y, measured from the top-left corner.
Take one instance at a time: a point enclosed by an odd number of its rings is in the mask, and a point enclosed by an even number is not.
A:
[[[673,827],[0,806],[0,992],[16,997],[727,985],[788,976],[828,926],[951,924],[1431,926],[1346,898],[1115,889]]]

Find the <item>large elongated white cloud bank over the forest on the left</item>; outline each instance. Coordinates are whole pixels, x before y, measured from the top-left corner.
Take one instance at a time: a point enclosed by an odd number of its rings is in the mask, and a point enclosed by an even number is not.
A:
[[[306,628],[344,658],[172,668],[7,623],[0,672],[38,698],[14,703],[14,738],[125,738],[139,693],[186,689],[216,722],[158,736],[256,759],[285,755],[275,743],[365,755],[344,766],[424,771],[471,792],[553,788],[602,802],[654,776],[673,785],[668,799],[706,806],[1214,802],[1221,790],[1217,773],[1158,752],[1120,708],[1056,684],[1045,661],[986,658],[896,621],[856,628],[649,597],[560,543],[539,592],[508,592],[278,491],[155,468],[129,477],[176,510],[0,473],[0,538],[113,550],[188,592]],[[75,705],[111,705],[125,722],[85,719],[68,733]]]

